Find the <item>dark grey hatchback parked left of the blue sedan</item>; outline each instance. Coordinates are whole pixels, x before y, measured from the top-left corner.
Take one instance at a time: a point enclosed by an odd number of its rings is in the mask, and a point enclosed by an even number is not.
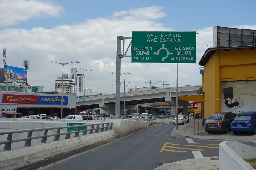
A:
[[[230,130],[230,123],[236,117],[232,112],[216,112],[211,114],[205,121],[205,131],[211,132],[224,132],[228,133]]]

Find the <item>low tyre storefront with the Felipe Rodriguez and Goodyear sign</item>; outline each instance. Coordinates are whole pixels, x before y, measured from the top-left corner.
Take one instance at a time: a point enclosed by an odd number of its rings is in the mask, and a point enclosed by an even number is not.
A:
[[[20,117],[24,115],[56,115],[61,117],[61,103],[63,109],[63,118],[67,115],[76,114],[76,94],[47,93],[13,93],[1,92],[0,95],[0,116]],[[15,112],[17,114],[15,114]],[[12,114],[11,114],[12,113]],[[19,114],[18,114],[19,113]]]

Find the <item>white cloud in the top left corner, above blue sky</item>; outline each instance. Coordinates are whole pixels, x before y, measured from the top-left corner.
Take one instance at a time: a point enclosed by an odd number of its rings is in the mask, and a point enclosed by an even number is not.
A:
[[[16,25],[36,17],[58,17],[64,12],[60,5],[39,0],[1,0],[0,27]]]

